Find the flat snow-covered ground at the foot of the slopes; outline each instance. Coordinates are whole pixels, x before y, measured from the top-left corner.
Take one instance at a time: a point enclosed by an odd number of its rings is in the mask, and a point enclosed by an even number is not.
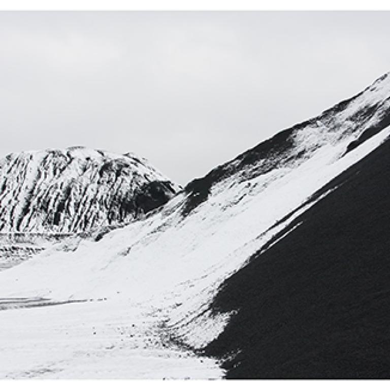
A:
[[[3,310],[0,377],[185,379],[222,375],[217,362],[175,345],[164,317],[148,309],[118,299]]]

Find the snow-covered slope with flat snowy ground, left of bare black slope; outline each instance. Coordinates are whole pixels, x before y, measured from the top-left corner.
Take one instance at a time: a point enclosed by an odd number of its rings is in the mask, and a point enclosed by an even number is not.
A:
[[[290,223],[338,184],[320,188],[387,140],[389,123],[386,74],[191,181],[146,218],[0,272],[0,305],[15,309],[0,313],[0,376],[223,376],[226,365],[199,355],[240,310],[216,310],[220,286],[295,231]],[[234,359],[233,345],[218,359]]]

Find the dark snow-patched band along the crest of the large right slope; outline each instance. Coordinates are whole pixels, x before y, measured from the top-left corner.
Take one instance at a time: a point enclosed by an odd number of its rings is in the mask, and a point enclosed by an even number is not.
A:
[[[247,172],[243,173],[243,179],[248,180],[251,176],[266,174],[283,164],[286,165],[286,163],[307,158],[308,154],[315,151],[315,147],[320,145],[310,144],[309,140],[308,145],[305,145],[303,148],[300,147],[299,143],[296,142],[297,135],[300,136],[301,140],[305,137],[304,134],[299,135],[300,132],[308,133],[308,130],[311,131],[312,128],[317,127],[320,131],[322,130],[323,140],[316,139],[314,142],[334,142],[335,137],[328,137],[326,133],[328,131],[338,131],[339,128],[344,126],[342,132],[339,132],[339,135],[336,134],[336,141],[337,137],[341,139],[357,133],[357,137],[351,139],[350,143],[346,145],[344,153],[350,152],[364,141],[379,133],[390,124],[389,76],[390,72],[385,73],[351,98],[337,103],[315,117],[276,133],[232,160],[214,168],[204,177],[190,181],[184,187],[184,190],[189,194],[189,199],[183,212],[184,215],[206,200],[211,186],[225,177],[246,169]],[[350,108],[349,113],[348,108]],[[344,112],[346,114],[342,115]],[[337,118],[337,115],[342,117]],[[325,132],[323,132],[323,128],[325,128]],[[289,154],[287,154],[288,151],[290,152]],[[256,167],[255,164],[262,159],[264,160],[263,163],[257,164]],[[195,197],[191,196],[192,194]]]

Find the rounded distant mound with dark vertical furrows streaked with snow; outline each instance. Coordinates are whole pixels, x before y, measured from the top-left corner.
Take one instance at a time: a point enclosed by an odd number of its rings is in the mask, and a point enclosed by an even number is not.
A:
[[[178,186],[132,154],[73,147],[0,160],[0,232],[88,232],[166,203]]]

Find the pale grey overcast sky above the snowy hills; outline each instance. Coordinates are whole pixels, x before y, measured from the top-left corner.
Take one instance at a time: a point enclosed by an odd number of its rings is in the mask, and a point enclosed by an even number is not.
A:
[[[1,12],[0,155],[84,145],[180,184],[390,71],[388,12]]]

